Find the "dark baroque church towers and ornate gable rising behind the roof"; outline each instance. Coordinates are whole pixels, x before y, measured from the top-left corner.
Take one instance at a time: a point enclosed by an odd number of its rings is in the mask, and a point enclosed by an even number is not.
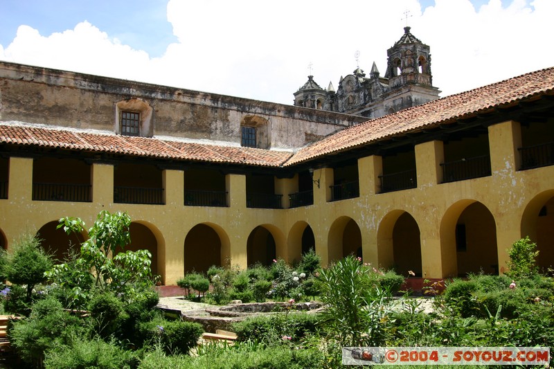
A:
[[[384,77],[373,62],[369,76],[357,67],[352,74],[341,77],[334,91],[331,83],[325,90],[310,75],[294,93],[294,105],[379,118],[435,100],[440,91],[432,84],[429,46],[410,29],[404,27],[404,35],[388,49]]]

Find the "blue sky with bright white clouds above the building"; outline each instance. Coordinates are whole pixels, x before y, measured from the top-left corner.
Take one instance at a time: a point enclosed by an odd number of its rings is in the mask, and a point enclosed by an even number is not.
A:
[[[0,0],[0,60],[292,105],[309,74],[384,76],[407,25],[444,97],[554,66],[553,15],[553,0]]]

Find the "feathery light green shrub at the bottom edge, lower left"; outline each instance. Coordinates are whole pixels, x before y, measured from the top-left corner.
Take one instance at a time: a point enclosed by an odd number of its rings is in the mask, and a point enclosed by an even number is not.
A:
[[[113,341],[100,338],[77,339],[71,345],[62,345],[46,352],[44,368],[52,369],[120,369],[136,368],[139,359],[129,350],[123,350]]]

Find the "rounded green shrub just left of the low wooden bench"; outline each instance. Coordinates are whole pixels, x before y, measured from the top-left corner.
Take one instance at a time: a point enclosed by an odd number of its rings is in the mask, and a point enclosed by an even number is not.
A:
[[[186,321],[167,321],[156,318],[140,323],[139,335],[143,343],[159,343],[168,354],[188,354],[200,335],[204,332],[202,325]]]

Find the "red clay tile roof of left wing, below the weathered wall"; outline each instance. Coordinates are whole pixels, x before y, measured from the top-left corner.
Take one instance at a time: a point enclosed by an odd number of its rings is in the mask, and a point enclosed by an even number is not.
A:
[[[0,124],[0,143],[106,152],[155,159],[278,167],[292,152],[165,141],[158,138],[78,132],[32,125]]]

